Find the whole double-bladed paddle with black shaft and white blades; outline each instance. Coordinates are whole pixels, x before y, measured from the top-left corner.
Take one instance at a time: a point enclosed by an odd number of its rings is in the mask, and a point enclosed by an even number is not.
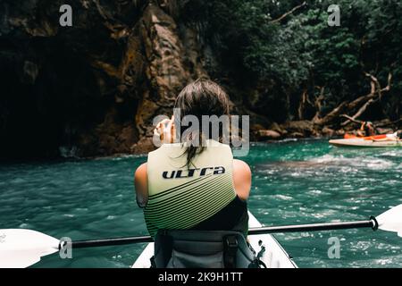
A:
[[[374,231],[377,229],[382,231],[394,231],[398,232],[398,236],[402,237],[402,205],[392,207],[378,217],[371,216],[367,221],[270,226],[250,229],[248,234],[330,231],[354,228],[372,228]],[[103,240],[78,240],[71,242],[71,248],[105,247],[151,241],[153,240],[149,236]],[[0,230],[0,268],[21,268],[34,265],[40,260],[40,257],[59,251],[64,245],[65,242],[38,231],[23,229]]]

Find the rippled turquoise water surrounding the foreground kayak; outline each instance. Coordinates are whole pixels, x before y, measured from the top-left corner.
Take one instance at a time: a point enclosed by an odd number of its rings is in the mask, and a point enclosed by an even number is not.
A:
[[[0,165],[0,228],[85,240],[147,234],[133,172],[146,156]],[[255,144],[249,208],[267,225],[365,220],[402,204],[402,148],[336,148],[323,140]],[[340,241],[330,259],[328,239]],[[277,234],[299,267],[401,267],[402,239],[371,230]],[[73,250],[34,267],[129,267],[144,244]]]

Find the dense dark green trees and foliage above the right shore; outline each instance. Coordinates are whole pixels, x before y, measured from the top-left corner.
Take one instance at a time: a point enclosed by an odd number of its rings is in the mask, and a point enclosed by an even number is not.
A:
[[[340,27],[327,23],[331,4],[198,0],[189,1],[182,14],[185,21],[204,24],[207,44],[219,55],[230,79],[242,87],[255,83],[269,87],[257,105],[248,107],[265,110],[272,120],[312,120],[328,114],[342,102],[370,93],[371,81],[376,93],[385,88],[389,73],[389,92],[379,94],[359,119],[398,119],[402,2],[339,0]]]

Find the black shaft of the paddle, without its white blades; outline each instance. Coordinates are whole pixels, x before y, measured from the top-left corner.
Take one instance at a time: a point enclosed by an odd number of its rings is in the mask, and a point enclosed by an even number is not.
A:
[[[378,223],[374,217],[368,221],[347,222],[347,223],[311,223],[297,224],[284,226],[264,226],[251,228],[248,230],[248,235],[267,234],[267,233],[283,233],[283,232],[302,232],[302,231],[332,231],[332,230],[347,230],[357,228],[372,228],[377,229]],[[126,245],[132,243],[146,243],[154,241],[150,236],[115,238],[102,240],[77,240],[71,242],[72,248],[96,248],[115,245]]]

